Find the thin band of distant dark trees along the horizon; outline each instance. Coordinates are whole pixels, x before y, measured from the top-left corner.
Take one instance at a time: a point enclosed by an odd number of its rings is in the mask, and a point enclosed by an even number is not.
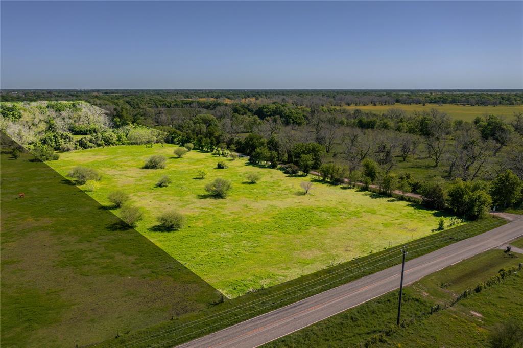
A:
[[[393,105],[402,104],[460,104],[460,105],[521,105],[521,90],[7,90],[0,92],[4,102],[37,100],[85,100],[100,105],[113,100],[135,97],[144,102],[142,107],[180,107],[184,103],[198,102],[224,105],[231,102],[272,102],[308,106]],[[95,102],[95,100],[98,102]],[[130,103],[132,104],[132,103]]]

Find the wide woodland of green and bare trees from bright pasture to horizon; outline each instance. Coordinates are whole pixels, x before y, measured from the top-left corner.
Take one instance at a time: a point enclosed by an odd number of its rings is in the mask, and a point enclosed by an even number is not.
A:
[[[384,194],[419,193],[427,206],[468,217],[521,204],[523,113],[511,121],[484,114],[467,122],[437,108],[406,113],[394,105],[513,105],[522,103],[520,91],[2,91],[2,100],[2,128],[12,136],[16,129],[15,138],[39,153],[191,144],[239,152],[255,165],[283,165],[291,175],[316,170],[333,184],[348,178]],[[390,108],[378,114],[340,107],[368,104]],[[107,119],[57,126],[56,115],[85,114],[87,105]],[[41,115],[39,130],[21,141],[34,114]]]

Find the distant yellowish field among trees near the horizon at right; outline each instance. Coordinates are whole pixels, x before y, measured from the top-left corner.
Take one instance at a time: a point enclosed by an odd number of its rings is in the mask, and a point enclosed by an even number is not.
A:
[[[497,106],[461,106],[454,104],[443,104],[438,106],[437,104],[426,104],[425,106],[421,104],[400,104],[396,105],[361,105],[361,106],[346,106],[344,108],[354,110],[360,109],[362,111],[372,111],[373,113],[383,114],[390,108],[400,108],[406,111],[406,113],[412,113],[413,111],[422,111],[430,110],[435,108],[439,111],[449,114],[452,119],[464,120],[464,121],[473,121],[477,116],[483,115],[496,115],[503,116],[505,120],[514,119],[514,113],[523,112],[523,105],[497,105]]]

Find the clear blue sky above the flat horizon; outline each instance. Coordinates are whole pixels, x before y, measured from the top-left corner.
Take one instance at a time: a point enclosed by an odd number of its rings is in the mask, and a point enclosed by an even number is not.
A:
[[[2,88],[523,88],[523,2],[2,1]]]

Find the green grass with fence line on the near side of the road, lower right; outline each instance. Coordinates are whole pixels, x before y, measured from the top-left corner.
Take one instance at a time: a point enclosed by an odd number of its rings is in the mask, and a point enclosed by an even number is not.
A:
[[[494,325],[514,318],[523,321],[523,277],[508,277],[463,299],[452,307],[422,315],[441,301],[450,300],[468,288],[474,288],[501,268],[516,266],[523,256],[509,257],[501,250],[476,255],[427,276],[404,289],[402,318],[417,318],[406,328],[385,336],[371,347],[488,347],[487,338]],[[395,325],[397,291],[349,309],[311,325],[264,348],[353,347],[385,328]]]

